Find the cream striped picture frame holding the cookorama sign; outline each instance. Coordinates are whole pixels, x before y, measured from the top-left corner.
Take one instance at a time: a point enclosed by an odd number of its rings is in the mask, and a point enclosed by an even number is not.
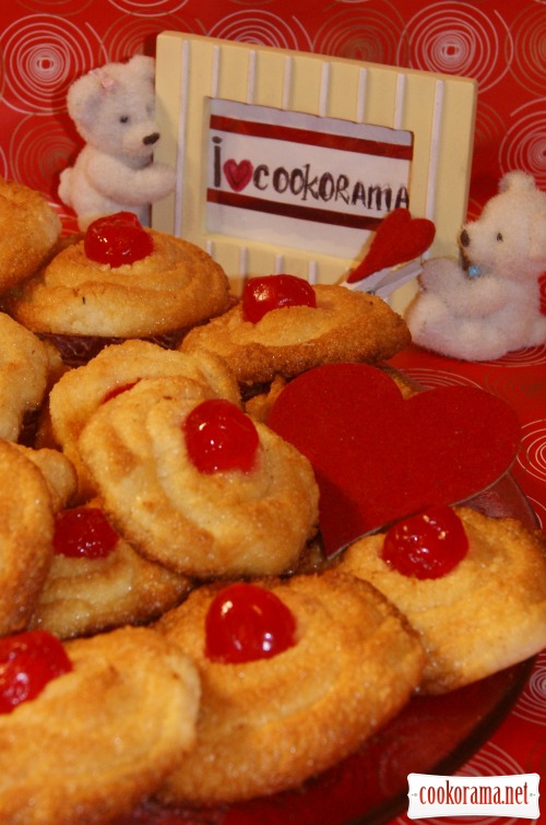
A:
[[[177,185],[152,224],[232,280],[337,282],[396,207],[434,221],[430,255],[458,254],[475,81],[164,32],[156,92]]]

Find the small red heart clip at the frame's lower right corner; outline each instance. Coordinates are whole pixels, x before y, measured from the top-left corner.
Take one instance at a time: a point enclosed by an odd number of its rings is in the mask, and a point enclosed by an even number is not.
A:
[[[380,269],[418,258],[431,245],[435,234],[432,221],[412,217],[407,209],[395,209],[379,224],[368,254],[347,278],[347,283],[361,281]]]

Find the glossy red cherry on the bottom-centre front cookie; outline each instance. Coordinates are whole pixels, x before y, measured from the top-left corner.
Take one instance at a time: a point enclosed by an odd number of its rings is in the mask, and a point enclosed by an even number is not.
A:
[[[205,618],[205,653],[236,664],[269,659],[296,644],[296,622],[286,604],[258,585],[228,585],[213,599]]]

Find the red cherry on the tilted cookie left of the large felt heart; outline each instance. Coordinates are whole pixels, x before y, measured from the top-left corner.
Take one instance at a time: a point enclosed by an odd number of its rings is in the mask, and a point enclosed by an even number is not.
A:
[[[200,472],[250,472],[254,467],[258,432],[230,401],[203,401],[190,412],[182,429],[190,461]]]

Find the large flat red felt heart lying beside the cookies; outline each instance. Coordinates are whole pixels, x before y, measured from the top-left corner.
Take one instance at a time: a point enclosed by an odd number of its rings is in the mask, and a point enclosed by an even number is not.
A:
[[[269,426],[311,461],[328,554],[430,504],[456,504],[509,469],[520,444],[514,411],[477,387],[404,400],[366,364],[328,364],[281,392]]]

